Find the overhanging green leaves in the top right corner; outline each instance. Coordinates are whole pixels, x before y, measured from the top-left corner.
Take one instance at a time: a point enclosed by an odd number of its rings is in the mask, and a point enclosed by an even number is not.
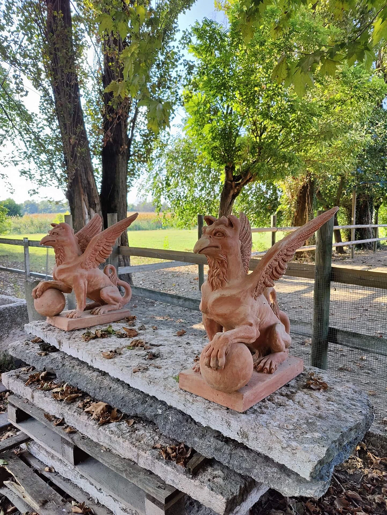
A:
[[[263,24],[268,28],[264,44],[269,39],[288,38],[289,45],[273,67],[272,77],[279,83],[293,84],[298,95],[306,87],[312,88],[314,79],[335,77],[342,64],[363,63],[369,70],[387,39],[387,5],[382,0],[225,0],[223,8],[236,20],[236,29],[246,45],[251,44]],[[276,16],[268,20],[267,13],[273,10]],[[331,29],[325,39],[316,38],[309,48],[293,40],[292,32],[294,21],[305,10],[326,20]]]

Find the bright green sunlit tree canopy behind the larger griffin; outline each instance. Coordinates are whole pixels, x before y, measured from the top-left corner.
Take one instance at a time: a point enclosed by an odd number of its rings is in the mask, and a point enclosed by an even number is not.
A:
[[[185,35],[195,58],[183,93],[186,135],[160,141],[149,166],[158,207],[165,199],[183,226],[197,213],[216,215],[227,188],[229,205],[237,199],[234,212],[245,211],[254,224],[268,225],[277,210],[289,221],[306,174],[324,195],[330,188],[334,205],[340,176],[350,174],[366,144],[364,124],[387,93],[384,80],[362,65],[344,66],[302,98],[290,83],[272,81],[275,56],[295,41],[308,53],[336,30],[304,9],[274,39],[268,27],[277,14],[265,11],[249,45],[233,14],[226,28],[204,20]],[[277,68],[278,79],[285,68]]]

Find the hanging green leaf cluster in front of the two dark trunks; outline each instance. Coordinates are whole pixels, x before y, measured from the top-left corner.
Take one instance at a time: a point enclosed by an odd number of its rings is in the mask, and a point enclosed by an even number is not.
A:
[[[163,62],[168,76],[168,62],[177,64],[178,54],[168,43],[177,30],[179,13],[194,1],[165,0],[152,7],[149,0],[139,0],[122,9],[122,2],[104,0],[103,12],[96,18],[101,35],[112,33],[126,42],[120,54],[123,78],[112,80],[105,92],[113,92],[116,99],[135,98],[138,108],[144,108],[148,130],[155,134],[169,127],[173,108],[171,100],[160,95],[163,77],[157,72],[155,76],[155,68],[160,70]]]

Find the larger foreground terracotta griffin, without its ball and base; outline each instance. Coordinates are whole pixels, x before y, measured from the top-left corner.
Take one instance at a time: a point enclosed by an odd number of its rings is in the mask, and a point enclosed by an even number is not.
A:
[[[200,303],[209,339],[203,350],[206,367],[223,369],[228,350],[237,342],[254,353],[258,372],[274,373],[285,361],[290,323],[279,310],[274,281],[283,276],[295,251],[338,209],[321,214],[273,245],[252,273],[248,273],[252,237],[247,217],[243,213],[239,218],[204,217],[207,227],[193,251],[205,254],[209,266]]]

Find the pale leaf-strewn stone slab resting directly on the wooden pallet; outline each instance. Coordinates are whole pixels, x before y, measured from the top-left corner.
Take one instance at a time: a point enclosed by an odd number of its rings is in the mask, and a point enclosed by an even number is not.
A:
[[[173,461],[164,460],[160,452],[153,449],[157,443],[166,447],[172,442],[152,422],[136,420],[130,427],[125,421],[98,425],[76,403],[56,401],[49,391],[38,390],[34,385],[26,386],[19,374],[20,371],[17,370],[2,374],[3,384],[16,395],[27,399],[45,413],[63,417],[66,424],[75,427],[81,434],[118,456],[151,470],[167,484],[189,494],[220,515],[227,515],[238,507],[242,507],[242,515],[268,489],[267,486],[256,483],[250,477],[241,476],[217,461],[204,466],[195,476],[191,476]]]

